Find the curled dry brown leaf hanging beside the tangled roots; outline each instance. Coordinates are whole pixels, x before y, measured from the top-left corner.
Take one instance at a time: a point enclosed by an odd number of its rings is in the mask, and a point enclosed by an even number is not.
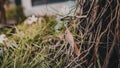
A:
[[[78,47],[77,47],[77,45],[74,41],[74,37],[73,37],[72,33],[69,31],[69,29],[66,29],[66,31],[65,31],[65,39],[70,44],[70,46],[72,47],[75,54],[79,55],[80,50],[78,49]]]

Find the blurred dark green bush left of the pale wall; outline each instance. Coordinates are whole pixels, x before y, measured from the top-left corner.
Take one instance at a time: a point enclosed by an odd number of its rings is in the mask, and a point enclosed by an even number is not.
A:
[[[22,22],[26,17],[23,13],[22,6],[13,6],[6,10],[6,17],[8,20],[15,20],[18,23]]]

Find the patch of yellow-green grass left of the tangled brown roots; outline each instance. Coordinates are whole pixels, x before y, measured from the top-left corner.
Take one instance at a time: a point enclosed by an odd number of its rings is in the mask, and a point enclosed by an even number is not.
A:
[[[1,68],[61,68],[64,67],[70,57],[66,51],[66,41],[60,41],[54,30],[56,22],[52,18],[45,18],[40,24],[19,24],[11,28],[4,28],[9,40],[0,44],[4,49],[0,55]],[[6,30],[6,31],[5,31]]]

